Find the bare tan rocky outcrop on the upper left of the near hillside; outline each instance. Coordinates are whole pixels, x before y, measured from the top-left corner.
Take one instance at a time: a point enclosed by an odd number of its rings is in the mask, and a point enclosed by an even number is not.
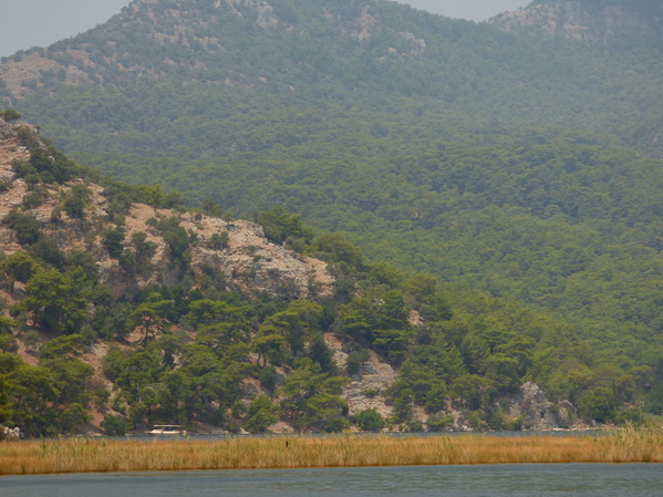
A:
[[[46,195],[38,204],[25,206],[24,198],[30,193],[25,182],[17,178],[12,164],[30,158],[28,149],[21,145],[18,131],[24,125],[10,124],[0,120],[0,220],[11,210],[20,208],[23,214],[34,216],[43,225],[43,230],[59,247],[70,253],[82,250],[92,253],[96,260],[101,280],[113,288],[117,298],[131,297],[144,288],[175,282],[182,277],[182,267],[174,262],[168,244],[154,226],[155,220],[177,218],[189,237],[189,269],[196,275],[205,271],[222,279],[231,291],[246,296],[267,292],[283,299],[304,299],[315,293],[318,297],[331,294],[333,278],[327,265],[304,257],[265,238],[262,228],[246,220],[226,221],[203,214],[178,213],[159,209],[144,204],[134,204],[125,216],[122,229],[125,234],[123,246],[135,249],[132,238],[137,234],[153,244],[153,255],[147,267],[138,273],[127,272],[117,258],[111,258],[103,247],[103,232],[114,227],[108,216],[108,200],[104,188],[95,184],[83,184],[76,179],[65,185],[52,184]],[[31,128],[32,133],[37,133]],[[90,198],[83,217],[71,217],[61,209],[62,198],[76,185],[84,185]],[[54,213],[60,218],[53,222]],[[218,246],[215,237],[224,236],[226,241]],[[0,250],[11,255],[20,250],[14,234],[7,226],[0,226]]]

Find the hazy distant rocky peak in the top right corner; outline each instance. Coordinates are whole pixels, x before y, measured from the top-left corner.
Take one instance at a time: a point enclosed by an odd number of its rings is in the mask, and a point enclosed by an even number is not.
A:
[[[652,12],[650,6],[638,8],[624,2],[532,3],[536,4],[501,13],[488,22],[510,32],[564,37],[590,43],[607,43],[621,38],[654,45],[663,40],[660,7]]]

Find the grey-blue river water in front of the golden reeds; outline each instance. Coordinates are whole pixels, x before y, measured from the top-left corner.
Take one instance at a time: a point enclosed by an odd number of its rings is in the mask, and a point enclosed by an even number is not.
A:
[[[2,497],[661,497],[660,464],[541,464],[0,477]]]

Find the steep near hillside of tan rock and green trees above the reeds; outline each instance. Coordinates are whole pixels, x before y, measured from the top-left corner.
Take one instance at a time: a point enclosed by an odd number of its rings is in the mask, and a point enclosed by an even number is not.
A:
[[[550,428],[659,408],[653,342],[618,366],[549,315],[367,265],[283,209],[256,225],[102,186],[24,123],[0,120],[0,423],[30,435]]]

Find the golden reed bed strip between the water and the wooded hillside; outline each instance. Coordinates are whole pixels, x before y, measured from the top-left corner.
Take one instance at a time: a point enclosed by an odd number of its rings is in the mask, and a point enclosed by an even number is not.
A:
[[[286,444],[288,442],[288,444]],[[0,475],[511,463],[663,463],[663,433],[62,439],[0,444]]]

